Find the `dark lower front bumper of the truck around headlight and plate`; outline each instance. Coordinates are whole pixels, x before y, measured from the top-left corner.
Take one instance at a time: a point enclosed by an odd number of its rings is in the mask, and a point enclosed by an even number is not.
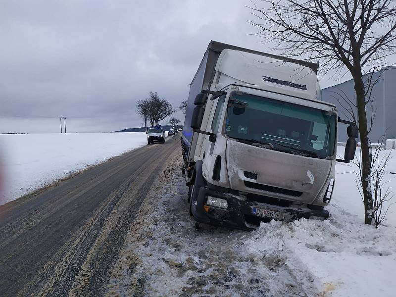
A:
[[[326,219],[329,212],[324,209],[310,209],[305,207],[284,207],[279,205],[261,203],[249,200],[246,197],[233,195],[229,193],[210,190],[207,187],[197,189],[198,197],[196,201],[192,201],[192,213],[196,221],[208,223],[212,225],[222,225],[226,227],[254,230],[259,227],[261,221],[270,221],[273,218],[257,216],[253,214],[253,208],[261,208],[277,213],[283,213],[282,220],[291,222],[300,218],[310,218],[311,216]],[[227,200],[228,207],[226,209],[206,205],[207,197],[222,198]]]

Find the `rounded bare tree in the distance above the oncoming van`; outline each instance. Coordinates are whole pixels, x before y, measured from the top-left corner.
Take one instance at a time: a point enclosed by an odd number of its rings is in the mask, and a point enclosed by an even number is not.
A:
[[[149,92],[148,99],[139,100],[136,104],[139,115],[147,122],[149,120],[151,126],[158,125],[168,115],[175,112],[172,104],[166,99],[159,98],[158,93]],[[147,126],[147,125],[146,125]]]

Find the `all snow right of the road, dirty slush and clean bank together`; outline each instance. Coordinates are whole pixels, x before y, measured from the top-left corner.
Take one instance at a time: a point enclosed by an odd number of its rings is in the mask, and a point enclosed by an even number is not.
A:
[[[393,155],[386,178],[396,189]],[[364,224],[355,165],[336,166],[329,219],[244,232],[195,230],[180,162],[175,154],[142,205],[107,296],[395,296],[395,208],[380,229]]]

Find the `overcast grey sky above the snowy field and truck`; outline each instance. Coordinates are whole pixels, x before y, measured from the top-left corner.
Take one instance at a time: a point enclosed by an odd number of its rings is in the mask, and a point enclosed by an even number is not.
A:
[[[58,116],[68,132],[141,126],[136,101],[153,91],[177,107],[210,40],[271,51],[249,3],[1,1],[0,133],[59,132]]]

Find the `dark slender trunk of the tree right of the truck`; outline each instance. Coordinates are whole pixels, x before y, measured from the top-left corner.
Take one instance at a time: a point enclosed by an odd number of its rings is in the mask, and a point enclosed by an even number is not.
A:
[[[361,154],[362,154],[362,174],[361,183],[363,190],[364,200],[364,219],[366,224],[371,224],[373,214],[373,197],[371,194],[371,159],[370,159],[370,147],[368,139],[368,128],[367,128],[367,115],[366,115],[366,103],[365,103],[365,88],[362,79],[363,75],[361,69],[353,74],[353,80],[355,83],[354,89],[356,92],[356,105],[359,118],[359,133],[361,143]]]

